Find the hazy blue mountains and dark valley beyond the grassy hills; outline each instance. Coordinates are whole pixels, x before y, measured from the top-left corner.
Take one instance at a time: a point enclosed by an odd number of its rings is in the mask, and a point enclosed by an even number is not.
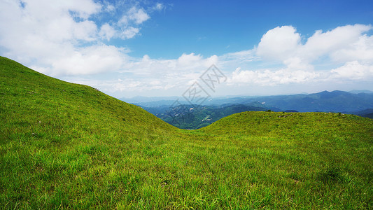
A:
[[[206,125],[243,111],[285,111],[285,112],[334,112],[351,113],[357,116],[372,118],[373,94],[366,90],[356,90],[358,93],[335,90],[313,94],[293,94],[268,97],[232,97],[211,99],[206,104],[185,105],[185,111],[180,107],[171,107],[173,101],[139,102],[146,111],[153,113],[167,123],[182,129],[198,129]],[[162,104],[165,103],[165,104]],[[147,107],[147,106],[149,107]]]

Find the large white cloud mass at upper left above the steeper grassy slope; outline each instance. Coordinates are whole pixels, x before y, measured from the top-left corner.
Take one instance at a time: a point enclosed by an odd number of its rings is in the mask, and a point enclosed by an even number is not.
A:
[[[94,21],[113,10],[111,4],[92,0],[0,1],[0,28],[6,29],[0,33],[0,52],[53,76],[118,71],[127,62],[128,50],[102,41],[133,38],[150,16],[132,6],[125,26]]]

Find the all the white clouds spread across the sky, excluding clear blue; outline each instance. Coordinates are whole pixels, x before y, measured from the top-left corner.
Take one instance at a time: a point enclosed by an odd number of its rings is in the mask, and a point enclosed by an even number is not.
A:
[[[118,2],[0,1],[1,55],[108,92],[185,88],[211,64],[226,74],[227,87],[373,80],[371,25],[316,30],[309,37],[286,25],[269,29],[252,49],[225,55],[131,57],[130,49],[108,43],[141,36],[141,26],[164,5]]]

